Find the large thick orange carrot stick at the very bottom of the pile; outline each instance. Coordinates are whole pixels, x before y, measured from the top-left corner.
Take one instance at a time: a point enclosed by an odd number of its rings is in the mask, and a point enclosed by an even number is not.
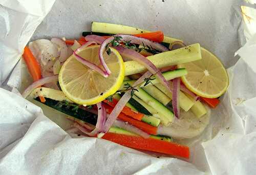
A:
[[[102,138],[135,149],[189,158],[189,147],[174,142],[166,142],[153,138],[144,139],[143,137],[115,133],[106,133]]]

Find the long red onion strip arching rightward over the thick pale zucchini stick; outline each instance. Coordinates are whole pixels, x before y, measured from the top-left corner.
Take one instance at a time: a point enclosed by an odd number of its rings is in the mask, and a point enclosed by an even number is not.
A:
[[[122,46],[117,46],[114,48],[117,49],[117,51],[123,57],[130,58],[134,61],[139,62],[140,64],[145,66],[147,68],[147,70],[150,71],[152,74],[156,73],[156,77],[158,78],[159,82],[163,86],[165,86],[170,92],[172,92],[172,88],[170,87],[168,81],[163,77],[163,74],[161,73],[161,71],[150,60],[148,60],[143,55],[137,53],[133,49],[124,48]]]

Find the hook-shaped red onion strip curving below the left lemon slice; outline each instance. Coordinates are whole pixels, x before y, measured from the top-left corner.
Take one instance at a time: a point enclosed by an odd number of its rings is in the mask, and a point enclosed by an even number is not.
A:
[[[81,132],[89,136],[95,136],[96,134],[101,132],[103,129],[104,123],[106,121],[106,110],[102,106],[101,102],[97,103],[97,108],[98,108],[98,119],[97,119],[96,127],[93,131],[89,132],[89,130],[80,126],[78,123],[74,123],[74,126],[77,127]]]

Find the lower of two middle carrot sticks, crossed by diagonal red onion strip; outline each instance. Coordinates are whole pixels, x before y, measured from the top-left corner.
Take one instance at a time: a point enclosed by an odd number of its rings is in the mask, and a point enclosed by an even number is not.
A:
[[[106,105],[106,104],[103,104],[103,106],[106,109],[106,113],[108,113],[108,114],[110,114],[112,112],[112,110],[114,109],[113,107],[111,107],[109,105]],[[143,121],[139,121],[139,120],[136,120],[134,118],[131,118],[131,117],[125,115],[122,112],[118,115],[117,118],[120,119],[120,120],[129,122],[133,126],[141,129],[142,131],[144,131],[148,134],[157,135],[157,127],[153,127],[150,124],[147,124]]]

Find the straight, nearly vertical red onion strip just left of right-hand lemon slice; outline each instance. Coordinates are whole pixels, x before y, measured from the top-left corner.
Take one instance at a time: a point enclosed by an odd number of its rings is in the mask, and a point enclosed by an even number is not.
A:
[[[173,79],[173,109],[174,115],[180,117],[180,78]]]

